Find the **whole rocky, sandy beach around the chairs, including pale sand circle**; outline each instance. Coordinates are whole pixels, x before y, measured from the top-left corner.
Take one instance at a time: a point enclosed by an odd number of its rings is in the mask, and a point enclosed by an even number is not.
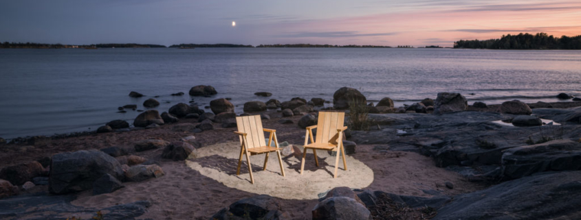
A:
[[[194,86],[187,94],[217,91]],[[129,95],[159,105],[155,97]],[[0,217],[579,219],[581,101],[558,98],[468,106],[459,93],[438,93],[394,106],[388,97],[371,103],[344,87],[333,100],[177,103],[145,110],[132,125],[115,120],[96,132],[1,139]],[[241,107],[243,114],[234,113]],[[340,167],[336,179],[331,151],[319,151],[321,167],[307,154],[305,175],[298,175],[305,127],[322,110],[347,112],[349,169]],[[272,158],[262,171],[260,156],[252,157],[256,184],[245,162],[235,174],[234,119],[254,114],[284,143],[287,176]],[[355,130],[355,123],[366,126]]]

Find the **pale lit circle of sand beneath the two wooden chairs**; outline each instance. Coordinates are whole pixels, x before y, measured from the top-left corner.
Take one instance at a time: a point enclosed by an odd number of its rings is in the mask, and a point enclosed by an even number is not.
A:
[[[298,149],[300,152],[297,152]],[[254,184],[252,184],[245,156],[243,156],[240,175],[236,175],[239,156],[239,142],[221,143],[197,149],[197,158],[186,160],[186,164],[191,169],[228,187],[282,199],[318,199],[318,195],[331,188],[338,186],[364,188],[373,182],[373,171],[349,155],[346,156],[347,171],[344,170],[342,159],[340,159],[337,178],[333,178],[336,157],[322,150],[317,151],[319,167],[316,167],[313,151],[310,149],[307,151],[305,171],[303,175],[300,175],[303,147],[295,145],[294,154],[282,156],[286,175],[284,177],[281,174],[276,152],[270,153],[265,171],[263,171],[265,154],[250,156],[254,175]]]

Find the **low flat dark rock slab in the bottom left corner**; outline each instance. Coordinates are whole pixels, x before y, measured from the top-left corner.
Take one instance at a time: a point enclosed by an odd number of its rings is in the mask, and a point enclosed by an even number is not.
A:
[[[0,200],[0,219],[55,219],[69,217],[91,219],[98,209],[73,206],[74,195],[20,195]],[[111,206],[100,210],[104,219],[135,219],[151,206],[150,201],[135,201],[130,204]]]

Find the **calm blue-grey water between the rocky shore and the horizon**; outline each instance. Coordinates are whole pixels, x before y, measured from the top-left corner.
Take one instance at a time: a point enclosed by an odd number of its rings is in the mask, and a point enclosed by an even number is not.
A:
[[[391,97],[396,106],[439,92],[458,92],[469,103],[558,101],[581,95],[581,51],[461,49],[1,49],[0,137],[96,130],[138,112],[118,106],[159,95],[157,110],[188,102],[188,90],[212,85],[218,94],[193,97],[200,106],[232,98],[292,97],[330,100],[342,86],[369,100]],[[131,90],[147,95],[128,96]],[[272,97],[256,97],[266,91]],[[184,92],[182,97],[171,93]],[[474,95],[469,95],[474,93]]]

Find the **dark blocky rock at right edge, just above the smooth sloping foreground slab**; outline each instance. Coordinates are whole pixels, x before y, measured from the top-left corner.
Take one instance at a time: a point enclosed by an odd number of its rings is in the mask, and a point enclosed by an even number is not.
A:
[[[503,153],[503,177],[522,178],[542,171],[581,169],[581,143],[551,140],[537,145],[507,149]]]

